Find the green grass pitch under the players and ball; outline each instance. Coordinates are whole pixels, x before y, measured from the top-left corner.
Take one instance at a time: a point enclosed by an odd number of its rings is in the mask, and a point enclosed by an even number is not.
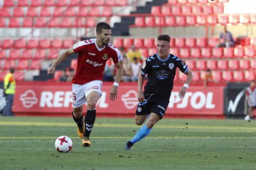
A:
[[[234,119],[163,119],[124,150],[134,119],[96,118],[83,148],[72,118],[0,117],[0,169],[256,169],[256,123]],[[72,152],[54,148],[72,139]]]

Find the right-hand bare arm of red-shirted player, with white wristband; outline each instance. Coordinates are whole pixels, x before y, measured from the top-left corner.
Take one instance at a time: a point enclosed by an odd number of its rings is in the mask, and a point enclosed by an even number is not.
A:
[[[116,72],[116,79],[114,81],[114,84],[111,88],[110,92],[110,100],[115,100],[117,99],[117,87],[122,79],[122,75],[124,74],[124,67],[122,65],[122,60],[118,63],[115,64],[117,67],[117,72]]]

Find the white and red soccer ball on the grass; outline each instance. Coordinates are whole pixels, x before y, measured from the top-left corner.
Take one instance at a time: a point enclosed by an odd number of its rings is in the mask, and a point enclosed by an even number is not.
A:
[[[60,136],[55,140],[55,148],[58,152],[69,152],[72,150],[72,140],[68,136]]]

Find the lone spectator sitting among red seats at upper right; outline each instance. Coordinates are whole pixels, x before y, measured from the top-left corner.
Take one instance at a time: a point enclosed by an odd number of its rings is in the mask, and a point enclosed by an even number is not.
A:
[[[216,44],[216,47],[233,47],[234,44],[235,41],[233,39],[231,32],[229,32],[226,26],[224,26],[223,32],[220,33],[220,39]]]

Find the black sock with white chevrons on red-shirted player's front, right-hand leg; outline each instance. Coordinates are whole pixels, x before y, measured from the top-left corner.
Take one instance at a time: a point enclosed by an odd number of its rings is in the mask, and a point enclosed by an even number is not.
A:
[[[95,118],[96,110],[87,110],[87,113],[85,115],[85,133],[83,134],[83,136],[90,137]]]

